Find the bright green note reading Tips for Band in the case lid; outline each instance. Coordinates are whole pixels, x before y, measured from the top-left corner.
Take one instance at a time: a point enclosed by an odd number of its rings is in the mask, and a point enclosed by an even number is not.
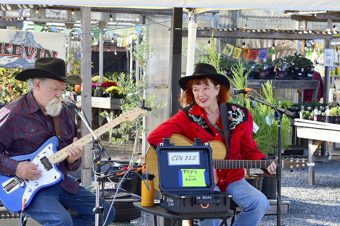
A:
[[[205,187],[205,169],[181,169],[183,187]]]

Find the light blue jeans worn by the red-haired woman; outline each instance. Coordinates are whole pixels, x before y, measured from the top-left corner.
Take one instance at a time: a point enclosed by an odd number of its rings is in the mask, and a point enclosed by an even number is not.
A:
[[[216,190],[219,191],[219,187],[216,186]],[[269,209],[266,196],[246,182],[244,178],[230,183],[225,192],[232,194],[232,200],[243,210],[237,214],[233,226],[256,226]],[[199,225],[218,226],[220,219],[200,221]]]

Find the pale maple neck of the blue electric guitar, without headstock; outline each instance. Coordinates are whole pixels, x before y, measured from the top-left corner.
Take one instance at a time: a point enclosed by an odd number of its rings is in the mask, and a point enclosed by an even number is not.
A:
[[[126,120],[124,120],[124,121],[126,121]],[[119,125],[122,122],[123,121],[121,120],[121,116],[119,116],[119,117],[114,118],[113,120],[109,121],[105,125],[99,127],[98,129],[94,130],[93,132],[97,137],[99,137],[102,134],[104,134],[105,132],[107,132],[108,130],[110,130],[111,128]],[[61,162],[68,157],[68,153],[66,151],[67,148],[74,147],[74,146],[84,146],[85,144],[88,144],[90,142],[92,142],[92,135],[91,135],[91,133],[88,133],[86,136],[80,138],[76,142],[74,142],[74,143],[64,147],[63,149],[55,152],[53,155],[51,155],[49,157],[49,160],[52,164]]]

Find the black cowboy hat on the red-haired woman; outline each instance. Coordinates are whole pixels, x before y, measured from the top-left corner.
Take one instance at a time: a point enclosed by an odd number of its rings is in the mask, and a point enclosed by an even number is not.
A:
[[[210,64],[205,64],[205,63],[197,64],[193,74],[191,76],[185,76],[185,77],[180,78],[180,80],[178,80],[178,84],[180,84],[183,90],[186,90],[188,88],[187,82],[190,79],[203,78],[203,77],[211,78],[215,80],[218,84],[224,85],[225,87],[230,88],[230,82],[227,79],[227,77],[225,77],[224,75],[218,74],[214,66]]]

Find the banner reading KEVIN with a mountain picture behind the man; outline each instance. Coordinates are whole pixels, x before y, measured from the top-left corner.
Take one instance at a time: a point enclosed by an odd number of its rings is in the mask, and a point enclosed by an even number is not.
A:
[[[0,29],[0,43],[0,67],[28,69],[38,58],[66,56],[62,33]]]

